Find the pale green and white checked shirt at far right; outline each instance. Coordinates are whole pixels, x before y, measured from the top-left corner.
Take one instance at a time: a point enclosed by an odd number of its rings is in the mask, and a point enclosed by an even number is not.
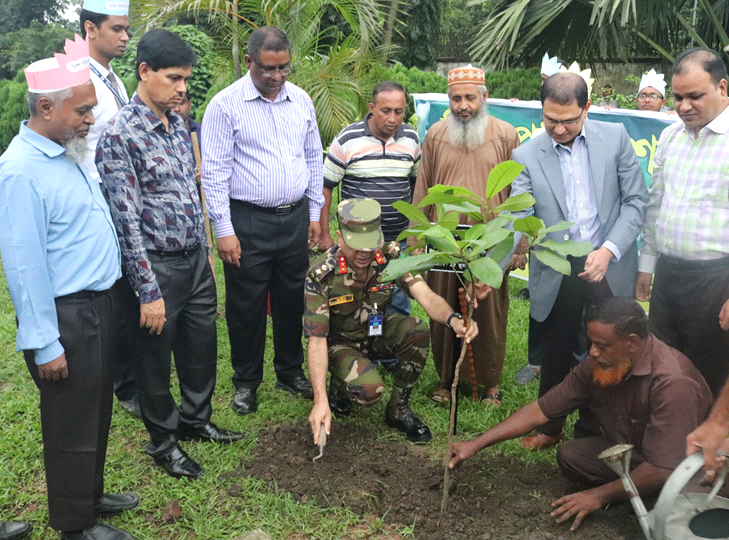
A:
[[[659,253],[690,261],[729,256],[729,107],[698,136],[677,122],[663,130],[653,160],[639,270]]]

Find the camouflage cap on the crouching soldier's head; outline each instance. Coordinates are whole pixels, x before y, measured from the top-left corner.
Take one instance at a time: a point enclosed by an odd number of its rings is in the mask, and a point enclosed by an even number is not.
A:
[[[337,207],[344,243],[357,251],[375,251],[385,240],[380,227],[380,203],[374,199],[346,199]]]

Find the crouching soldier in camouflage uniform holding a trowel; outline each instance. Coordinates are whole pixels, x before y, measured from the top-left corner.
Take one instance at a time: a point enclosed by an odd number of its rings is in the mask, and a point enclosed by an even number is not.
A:
[[[409,441],[427,442],[430,430],[408,403],[428,356],[428,326],[415,317],[386,314],[386,308],[399,286],[431,319],[450,325],[458,337],[470,341],[478,329],[474,324],[466,333],[460,316],[420,276],[405,274],[390,283],[380,280],[387,262],[400,257],[400,247],[397,242],[383,247],[377,201],[348,199],[339,203],[338,214],[338,245],[315,261],[305,285],[304,333],[314,387],[309,422],[314,442],[322,424],[329,433],[332,411],[347,415],[352,402],[372,405],[382,397],[384,385],[371,360],[393,356],[397,365],[385,421]],[[327,369],[332,374],[328,395]]]

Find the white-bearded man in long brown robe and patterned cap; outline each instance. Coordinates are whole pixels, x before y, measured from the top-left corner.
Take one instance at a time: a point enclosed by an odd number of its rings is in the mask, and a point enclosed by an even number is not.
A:
[[[448,73],[450,114],[429,130],[423,144],[418,179],[413,193],[417,205],[436,184],[466,187],[479,196],[486,190],[491,169],[511,159],[511,152],[519,146],[519,136],[510,124],[488,115],[488,90],[484,72],[474,67],[453,69]],[[509,196],[509,189],[496,196],[499,203]],[[436,220],[435,206],[423,208],[431,221]],[[487,216],[491,219],[493,216]],[[463,224],[469,223],[465,219]],[[517,262],[518,256],[514,262]],[[445,298],[453,309],[460,312],[459,281],[455,274],[429,272],[428,285]],[[476,381],[485,387],[483,401],[501,404],[501,371],[506,352],[506,321],[509,311],[508,272],[501,289],[491,291],[473,312],[479,335],[471,343],[476,368]],[[433,360],[440,376],[440,386],[431,396],[434,401],[450,399],[455,363],[460,354],[460,343],[446,325],[430,326]],[[462,379],[468,379],[464,366]]]

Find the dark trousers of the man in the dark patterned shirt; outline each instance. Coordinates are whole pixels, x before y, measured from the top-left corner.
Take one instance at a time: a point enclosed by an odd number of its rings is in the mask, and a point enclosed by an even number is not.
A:
[[[177,444],[181,424],[210,421],[218,355],[217,295],[203,248],[174,255],[149,253],[149,260],[165,302],[162,333],[139,328],[139,301],[131,287],[125,311],[139,407],[150,436],[147,453],[157,456]],[[182,395],[179,407],[170,393],[172,353]]]

